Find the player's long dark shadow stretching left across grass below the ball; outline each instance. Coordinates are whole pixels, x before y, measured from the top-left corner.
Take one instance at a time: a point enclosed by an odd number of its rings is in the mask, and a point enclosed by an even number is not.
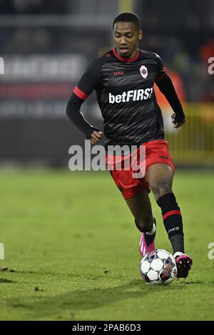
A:
[[[14,301],[7,301],[16,309],[24,308],[26,319],[70,319],[76,320],[76,314],[80,311],[90,311],[103,306],[111,305],[118,301],[124,301],[124,304],[130,303],[129,299],[143,301],[146,295],[163,292],[165,289],[169,291],[178,290],[178,286],[149,286],[142,282],[141,279],[133,280],[125,285],[111,288],[94,288],[94,289],[78,289],[73,292],[65,292],[54,297],[44,297],[43,295],[24,297]],[[131,304],[132,305],[132,304]],[[131,307],[130,307],[131,308]]]

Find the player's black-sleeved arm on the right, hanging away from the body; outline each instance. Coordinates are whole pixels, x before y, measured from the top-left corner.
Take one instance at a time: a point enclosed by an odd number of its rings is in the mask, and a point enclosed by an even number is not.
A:
[[[173,108],[173,128],[179,128],[181,125],[185,123],[185,114],[183,113],[183,108],[180,103],[180,100],[175,92],[175,88],[173,86],[173,82],[171,81],[170,77],[163,73],[160,78],[156,78],[156,85],[158,86],[159,90],[165,98],[167,98],[168,103],[170,103],[171,108]]]

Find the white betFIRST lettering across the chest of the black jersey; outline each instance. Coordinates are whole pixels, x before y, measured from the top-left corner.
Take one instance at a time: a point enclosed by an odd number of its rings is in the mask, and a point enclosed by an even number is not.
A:
[[[138,100],[146,100],[151,98],[153,93],[153,88],[140,88],[139,90],[132,90],[123,92],[122,94],[118,94],[117,96],[113,96],[113,94],[109,93],[109,103],[128,103],[129,101],[138,101]]]

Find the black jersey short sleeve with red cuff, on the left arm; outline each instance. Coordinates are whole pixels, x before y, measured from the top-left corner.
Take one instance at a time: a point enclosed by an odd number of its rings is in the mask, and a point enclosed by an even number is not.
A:
[[[101,71],[95,60],[83,73],[83,76],[81,76],[81,79],[78,81],[73,93],[75,93],[78,98],[86,100],[91,92],[98,86],[100,75]]]

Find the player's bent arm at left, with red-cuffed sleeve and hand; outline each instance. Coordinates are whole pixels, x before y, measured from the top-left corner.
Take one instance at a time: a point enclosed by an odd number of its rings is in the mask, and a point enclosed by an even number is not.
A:
[[[81,113],[81,105],[88,98],[96,85],[98,85],[98,71],[95,71],[96,62],[88,66],[85,73],[81,77],[77,86],[74,88],[71,98],[68,100],[68,105],[66,108],[66,114],[68,118],[76,125],[76,127],[81,130],[81,132],[86,136],[86,139],[90,139],[92,144],[96,144],[98,140],[101,139],[102,132],[93,127],[84,118]]]

